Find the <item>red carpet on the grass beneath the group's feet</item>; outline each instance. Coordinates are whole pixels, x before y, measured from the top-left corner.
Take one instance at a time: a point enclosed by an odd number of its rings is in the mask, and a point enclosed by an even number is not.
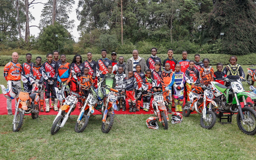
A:
[[[152,101],[152,99],[151,99]],[[247,98],[248,102],[252,102],[250,98]],[[3,94],[0,94],[0,102],[1,102],[1,106],[0,106],[0,115],[7,115],[7,109],[6,109],[6,98],[3,96]],[[141,101],[142,102],[142,101]],[[243,107],[243,103],[241,103],[242,107]],[[122,111],[122,109],[120,111],[115,111],[115,114],[152,114],[153,115],[153,108],[151,106],[150,103],[150,109],[148,112],[145,112],[143,110],[140,110],[139,112],[129,112],[129,105],[128,102],[126,100],[126,111]],[[174,108],[172,108],[172,111],[174,112]],[[15,112],[15,101],[12,100],[12,113],[14,114]],[[39,115],[57,115],[58,112],[55,112],[53,110],[50,110],[50,112],[46,113],[46,112],[40,112]],[[71,113],[71,115],[79,115],[80,111],[75,108],[75,110]],[[192,112],[192,113],[196,113],[196,112]],[[99,111],[95,110],[94,114],[101,114]],[[30,115],[30,114],[29,114]]]

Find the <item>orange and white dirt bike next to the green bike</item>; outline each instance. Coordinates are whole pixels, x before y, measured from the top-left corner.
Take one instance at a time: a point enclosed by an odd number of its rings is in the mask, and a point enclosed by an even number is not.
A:
[[[196,86],[196,84],[195,84]],[[182,114],[188,117],[191,112],[196,111],[201,115],[200,125],[202,128],[211,129],[216,122],[216,115],[212,111],[212,108],[217,107],[215,101],[213,101],[213,92],[210,86],[200,85],[203,90],[202,94],[197,94],[195,92],[189,92],[189,101],[183,106]]]

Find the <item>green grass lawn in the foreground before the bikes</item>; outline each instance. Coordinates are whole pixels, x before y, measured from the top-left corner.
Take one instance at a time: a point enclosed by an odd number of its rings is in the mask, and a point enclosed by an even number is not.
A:
[[[74,131],[71,116],[55,135],[50,130],[55,116],[32,120],[25,116],[19,132],[12,132],[13,116],[0,116],[0,159],[248,159],[256,158],[256,136],[232,124],[216,122],[211,130],[200,126],[199,114],[164,130],[148,129],[151,115],[116,115],[108,134],[101,132],[101,115],[89,119],[82,133]],[[218,120],[217,120],[218,121]]]

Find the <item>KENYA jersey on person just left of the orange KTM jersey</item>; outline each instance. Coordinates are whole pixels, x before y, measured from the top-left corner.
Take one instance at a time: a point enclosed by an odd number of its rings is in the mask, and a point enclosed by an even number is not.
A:
[[[47,81],[49,78],[56,80],[58,76],[58,68],[55,62],[48,63],[48,61],[42,64],[42,76]],[[50,80],[51,80],[50,79]]]

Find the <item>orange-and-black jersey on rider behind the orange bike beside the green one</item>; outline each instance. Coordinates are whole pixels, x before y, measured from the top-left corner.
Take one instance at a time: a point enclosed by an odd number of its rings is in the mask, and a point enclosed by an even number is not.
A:
[[[199,79],[200,82],[208,86],[213,81],[213,68],[210,66],[209,68],[202,67],[199,71]]]

